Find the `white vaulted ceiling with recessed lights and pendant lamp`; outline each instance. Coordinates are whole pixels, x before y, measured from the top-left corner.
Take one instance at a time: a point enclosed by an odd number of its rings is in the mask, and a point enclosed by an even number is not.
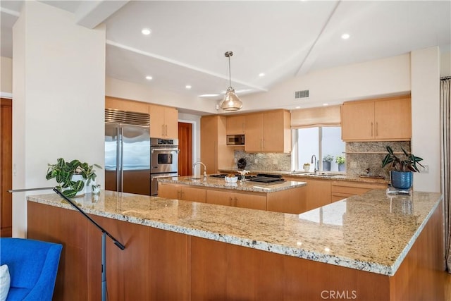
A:
[[[314,70],[451,45],[450,0],[42,2],[86,27],[106,23],[106,76],[190,96],[226,90],[226,51],[244,95]],[[22,3],[0,1],[1,56],[12,56]]]

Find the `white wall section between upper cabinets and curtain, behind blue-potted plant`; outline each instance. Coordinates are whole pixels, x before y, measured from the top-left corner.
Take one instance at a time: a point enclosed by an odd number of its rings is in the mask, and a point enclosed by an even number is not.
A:
[[[414,173],[414,188],[440,192],[440,51],[412,51],[412,154],[428,173]]]

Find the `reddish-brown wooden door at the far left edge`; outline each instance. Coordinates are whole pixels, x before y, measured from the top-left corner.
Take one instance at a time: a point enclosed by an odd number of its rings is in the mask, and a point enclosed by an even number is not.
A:
[[[12,235],[13,188],[13,104],[11,99],[1,98],[0,110],[0,236]]]

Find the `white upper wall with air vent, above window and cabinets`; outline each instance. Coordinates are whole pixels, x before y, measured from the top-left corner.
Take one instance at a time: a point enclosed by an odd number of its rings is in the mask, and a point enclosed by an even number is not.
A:
[[[295,99],[295,91],[309,90],[308,99]],[[356,63],[292,78],[271,87],[269,92],[240,97],[243,109],[274,109],[280,106],[302,108],[323,103],[341,104],[410,91],[410,55]]]

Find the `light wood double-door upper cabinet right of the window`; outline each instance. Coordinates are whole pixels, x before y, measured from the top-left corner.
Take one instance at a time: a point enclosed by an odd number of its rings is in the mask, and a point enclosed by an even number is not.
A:
[[[341,106],[341,128],[343,141],[410,140],[410,95],[345,102]]]

